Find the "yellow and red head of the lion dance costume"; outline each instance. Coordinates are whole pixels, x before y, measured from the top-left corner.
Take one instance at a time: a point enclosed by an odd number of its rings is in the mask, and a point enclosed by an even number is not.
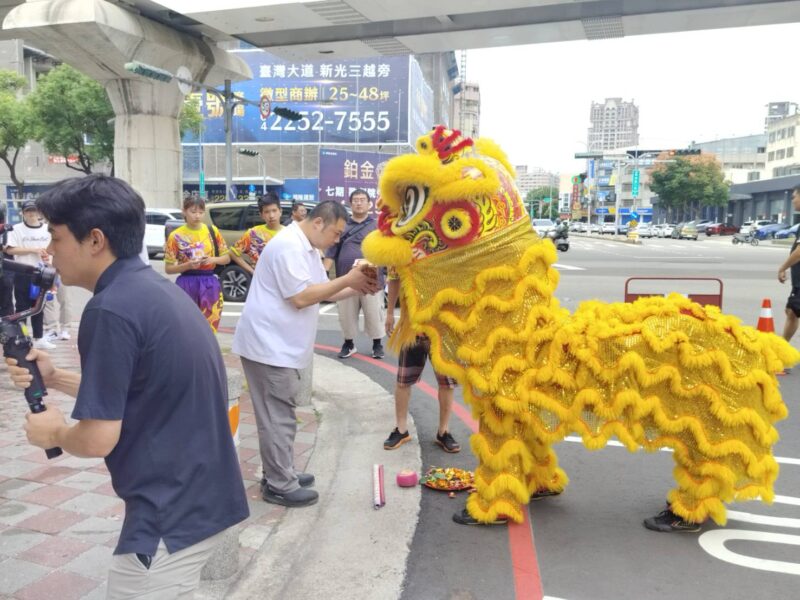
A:
[[[402,267],[528,220],[514,170],[492,141],[440,125],[416,149],[381,174],[379,234],[364,245],[372,262]]]

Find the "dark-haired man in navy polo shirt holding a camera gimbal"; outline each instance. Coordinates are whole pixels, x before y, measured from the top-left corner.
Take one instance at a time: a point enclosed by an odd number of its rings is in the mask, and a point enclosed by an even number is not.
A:
[[[144,202],[125,182],[69,179],[37,207],[63,283],[94,296],[78,334],[81,374],[28,356],[45,385],[76,398],[77,423],[51,406],[28,415],[28,439],[105,458],[125,501],[108,598],[183,598],[221,533],[248,516],[219,346],[189,297],[139,259]],[[6,362],[26,387],[28,371]]]

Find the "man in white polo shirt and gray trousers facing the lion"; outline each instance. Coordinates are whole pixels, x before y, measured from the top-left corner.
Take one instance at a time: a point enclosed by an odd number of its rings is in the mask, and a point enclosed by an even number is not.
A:
[[[339,241],[346,220],[341,204],[322,202],[272,239],[256,264],[233,336],[258,425],[262,496],[274,504],[309,506],[319,497],[307,489],[314,476],[295,471],[293,452],[299,369],[314,354],[318,304],[378,291],[377,272],[366,265],[328,280],[320,251]]]

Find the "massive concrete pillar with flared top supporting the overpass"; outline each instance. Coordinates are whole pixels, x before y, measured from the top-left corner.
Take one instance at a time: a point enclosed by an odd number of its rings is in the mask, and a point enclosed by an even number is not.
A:
[[[156,23],[106,0],[34,0],[13,8],[3,30],[29,41],[103,84],[116,113],[115,174],[148,206],[180,206],[182,191],[175,83],[125,70],[140,61],[209,85],[252,77],[250,68],[199,37]]]

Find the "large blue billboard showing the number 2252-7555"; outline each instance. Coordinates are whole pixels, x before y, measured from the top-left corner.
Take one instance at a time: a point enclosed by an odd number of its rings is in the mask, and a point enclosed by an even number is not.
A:
[[[253,79],[233,85],[235,95],[303,115],[287,121],[274,110],[263,118],[257,106],[233,111],[234,143],[249,144],[408,144],[433,125],[433,92],[409,56],[361,59],[283,60],[261,50],[236,53]],[[205,118],[202,141],[225,142],[223,105],[213,94],[197,94]],[[191,133],[185,144],[196,143]]]

